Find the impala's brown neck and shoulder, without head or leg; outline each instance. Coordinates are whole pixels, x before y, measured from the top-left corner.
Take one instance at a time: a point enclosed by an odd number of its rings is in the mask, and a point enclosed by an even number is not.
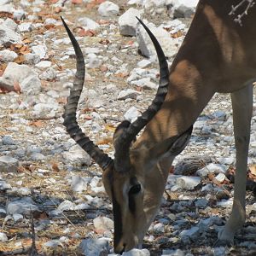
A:
[[[239,1],[201,0],[172,63],[168,93],[133,148],[154,146],[194,124],[215,92],[239,90],[255,78],[256,8],[243,19],[230,16]]]

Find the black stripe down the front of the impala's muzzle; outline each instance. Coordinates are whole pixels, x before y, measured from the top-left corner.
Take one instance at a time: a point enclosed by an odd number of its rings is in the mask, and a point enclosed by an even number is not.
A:
[[[113,202],[113,247],[118,246],[119,241],[123,235],[123,224],[122,224],[122,212],[119,203],[116,201],[112,190],[112,202]]]

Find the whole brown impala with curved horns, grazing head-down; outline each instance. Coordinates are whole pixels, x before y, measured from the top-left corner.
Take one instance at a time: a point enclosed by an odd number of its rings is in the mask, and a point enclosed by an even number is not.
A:
[[[64,125],[102,168],[103,183],[113,202],[116,253],[142,245],[143,236],[160,208],[172,160],[189,142],[195,120],[216,92],[231,95],[236,142],[234,202],[229,220],[218,233],[218,241],[232,243],[236,230],[245,222],[252,82],[256,78],[256,8],[250,8],[249,15],[243,16],[241,26],[229,15],[231,5],[239,3],[240,0],[198,3],[170,73],[160,45],[140,21],[159,58],[160,86],[152,104],[136,121],[123,121],[117,127],[113,135],[114,160],[91,142],[77,123],[84,57],[63,20],[77,56],[77,73],[65,106]],[[143,128],[142,135],[135,140]]]

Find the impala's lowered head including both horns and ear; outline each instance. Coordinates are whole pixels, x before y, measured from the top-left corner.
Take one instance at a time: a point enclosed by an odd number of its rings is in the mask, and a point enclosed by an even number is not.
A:
[[[115,253],[140,247],[149,225],[160,207],[168,170],[172,160],[189,142],[192,127],[183,134],[170,137],[162,143],[148,147],[146,143],[137,146],[133,143],[139,131],[154,118],[165,100],[168,86],[168,65],[166,57],[154,35],[144,26],[156,49],[160,62],[160,85],[148,109],[130,123],[123,121],[113,135],[114,160],[104,154],[89,137],[84,135],[76,120],[79,96],[84,84],[84,57],[82,51],[61,18],[71,39],[77,57],[77,73],[73,89],[65,106],[64,125],[71,137],[102,168],[103,183],[113,202]]]

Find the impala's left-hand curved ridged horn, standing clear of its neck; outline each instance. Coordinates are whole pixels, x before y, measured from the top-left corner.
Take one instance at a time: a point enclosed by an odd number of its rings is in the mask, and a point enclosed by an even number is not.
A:
[[[79,104],[79,97],[82,93],[84,84],[84,56],[82,50],[79,47],[79,43],[77,42],[76,38],[74,38],[73,33],[70,31],[62,17],[61,20],[66,28],[68,37],[73,44],[73,49],[75,51],[77,59],[77,72],[73,81],[73,88],[70,90],[70,95],[67,97],[67,104],[64,107],[63,125],[66,126],[67,132],[69,133],[70,137],[72,137],[73,140],[78,143],[81,148],[84,149],[84,151],[90,154],[90,157],[95,160],[96,163],[104,171],[111,163],[113,163],[113,160],[108,156],[108,154],[104,154],[102,149],[98,148],[98,146],[96,146],[89,137],[85,136],[84,132],[79,127],[76,119],[76,111]]]

